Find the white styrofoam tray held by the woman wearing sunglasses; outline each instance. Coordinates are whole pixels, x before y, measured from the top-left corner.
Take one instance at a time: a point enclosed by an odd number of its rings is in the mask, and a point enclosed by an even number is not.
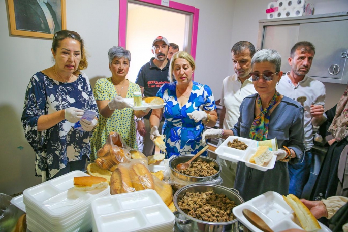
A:
[[[244,142],[248,147],[243,151],[236,148],[228,147],[227,143],[232,142],[234,139]],[[274,155],[272,159],[268,162],[266,166],[260,166],[255,163],[250,163],[249,159],[255,154],[258,147],[258,141],[246,139],[239,136],[229,136],[218,148],[216,148],[215,153],[221,158],[232,162],[244,162],[247,167],[257,169],[260,171],[267,171],[273,169],[277,157]]]

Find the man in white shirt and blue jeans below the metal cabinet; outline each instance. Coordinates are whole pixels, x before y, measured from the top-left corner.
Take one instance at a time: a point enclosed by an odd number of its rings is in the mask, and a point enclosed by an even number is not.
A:
[[[324,113],[325,86],[322,82],[310,78],[307,73],[310,70],[315,47],[312,43],[301,41],[294,45],[288,59],[291,71],[283,76],[278,85],[277,91],[295,101],[305,100],[302,106],[304,112],[304,132],[306,151],[300,163],[288,164],[290,186],[289,193],[301,197],[303,188],[310,175],[310,164],[312,159],[311,148],[313,147],[313,125],[319,121],[325,121]]]

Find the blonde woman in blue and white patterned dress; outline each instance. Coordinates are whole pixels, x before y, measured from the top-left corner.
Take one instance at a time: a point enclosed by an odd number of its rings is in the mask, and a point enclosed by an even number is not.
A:
[[[150,116],[151,140],[159,137],[158,126],[162,117],[166,151],[172,155],[196,154],[203,148],[202,133],[206,126],[217,120],[216,106],[211,89],[192,81],[195,60],[185,51],[175,53],[169,65],[169,84],[157,92],[167,105],[152,110]],[[173,82],[173,75],[175,82]],[[202,155],[207,155],[205,151]]]

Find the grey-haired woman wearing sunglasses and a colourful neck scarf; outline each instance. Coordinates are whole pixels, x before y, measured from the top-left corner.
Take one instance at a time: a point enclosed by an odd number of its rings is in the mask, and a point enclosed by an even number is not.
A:
[[[290,98],[280,95],[275,86],[283,72],[280,71],[281,57],[272,49],[258,51],[252,57],[252,83],[258,93],[244,98],[240,106],[240,117],[232,129],[208,129],[207,138],[240,136],[252,140],[277,138],[277,162],[273,169],[262,172],[238,162],[234,188],[245,201],[267,191],[288,194],[288,161],[298,162],[305,149],[303,139],[303,107]],[[283,148],[284,147],[284,148]]]

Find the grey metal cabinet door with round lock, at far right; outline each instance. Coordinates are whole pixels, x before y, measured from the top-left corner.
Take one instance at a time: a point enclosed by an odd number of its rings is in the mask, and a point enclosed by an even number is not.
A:
[[[348,83],[347,72],[343,72],[348,50],[348,20],[301,23],[298,41],[309,41],[315,46],[309,76],[325,82]]]

